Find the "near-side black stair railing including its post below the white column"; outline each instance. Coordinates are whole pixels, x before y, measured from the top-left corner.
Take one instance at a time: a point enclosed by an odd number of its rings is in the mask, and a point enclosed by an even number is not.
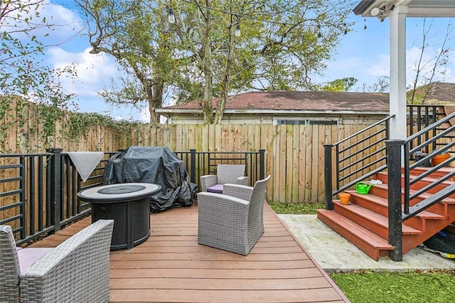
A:
[[[429,163],[437,154],[454,150],[455,141],[453,139],[453,134],[455,132],[455,125],[451,125],[451,127],[441,127],[442,124],[446,124],[454,118],[455,112],[437,120],[437,122],[434,122],[424,129],[419,130],[419,132],[412,134],[405,140],[387,140],[386,142],[389,243],[394,246],[394,250],[390,252],[389,257],[394,261],[402,260],[402,223],[455,193],[455,184],[451,184],[445,186],[441,191],[431,193],[428,195],[428,198],[424,198],[422,201],[414,203],[414,205],[411,206],[411,202],[414,199],[420,199],[423,193],[430,193],[432,188],[443,184],[444,181],[455,176],[454,170],[447,171],[445,175],[441,175],[440,178],[434,179],[434,181],[429,185],[424,186],[424,188],[417,191],[411,191],[413,184],[416,184],[425,177],[439,171],[441,167],[447,166],[451,161],[455,161],[455,157],[449,157],[449,159],[446,159],[441,164],[427,169],[424,173],[413,173],[411,178],[413,169]],[[433,149],[434,147],[438,148]],[[421,154],[422,151],[429,152]],[[416,157],[417,153],[420,154],[418,157]],[[411,164],[412,159],[414,159],[413,164]],[[403,186],[402,178],[404,180]],[[402,203],[404,203],[403,209]]]

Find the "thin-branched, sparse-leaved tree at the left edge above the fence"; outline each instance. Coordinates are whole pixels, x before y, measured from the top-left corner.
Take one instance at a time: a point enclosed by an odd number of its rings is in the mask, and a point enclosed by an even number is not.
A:
[[[33,123],[43,124],[41,139],[49,147],[49,138],[55,135],[55,112],[67,107],[72,97],[63,92],[58,76],[63,73],[73,75],[73,70],[70,67],[51,70],[43,63],[43,50],[47,46],[39,41],[35,33],[38,30],[51,31],[55,26],[41,16],[43,5],[46,5],[44,0],[0,1],[0,120],[7,115],[12,100],[17,101],[18,112],[29,101],[46,105],[38,107],[38,112],[33,113],[39,117],[34,121],[5,119],[0,128],[2,151],[6,151],[4,135],[12,127],[20,129],[26,123],[28,127],[32,127]]]

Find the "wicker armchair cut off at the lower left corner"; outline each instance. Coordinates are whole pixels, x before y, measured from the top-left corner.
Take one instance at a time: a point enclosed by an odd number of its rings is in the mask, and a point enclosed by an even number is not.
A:
[[[1,301],[108,302],[113,227],[114,220],[97,220],[21,270],[11,227],[1,225]]]

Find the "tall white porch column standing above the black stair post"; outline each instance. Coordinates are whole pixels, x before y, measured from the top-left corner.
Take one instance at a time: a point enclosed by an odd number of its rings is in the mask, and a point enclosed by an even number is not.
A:
[[[407,6],[390,12],[390,139],[405,139],[406,131],[406,13]]]

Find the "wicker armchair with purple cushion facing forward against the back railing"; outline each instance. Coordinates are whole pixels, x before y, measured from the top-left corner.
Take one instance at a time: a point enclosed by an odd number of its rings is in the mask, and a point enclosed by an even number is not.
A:
[[[210,193],[223,193],[224,184],[248,185],[248,177],[244,176],[245,165],[242,164],[218,164],[216,175],[200,177],[201,191]]]

